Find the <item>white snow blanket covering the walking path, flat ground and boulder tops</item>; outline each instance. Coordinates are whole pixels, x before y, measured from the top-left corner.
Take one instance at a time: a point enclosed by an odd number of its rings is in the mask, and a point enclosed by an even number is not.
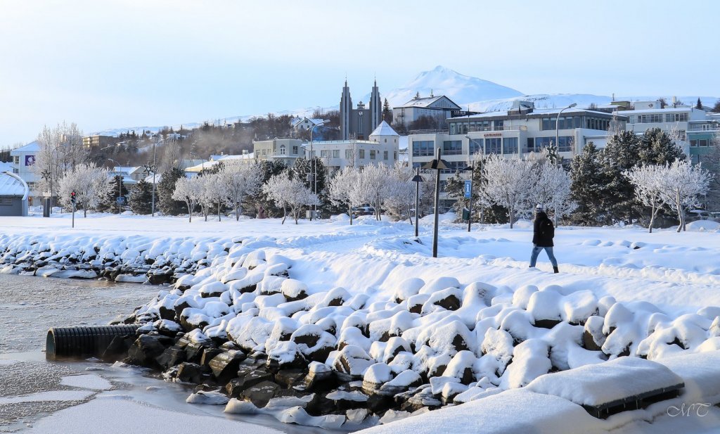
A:
[[[301,221],[300,225],[280,225],[279,220],[212,220],[188,223],[180,217],[90,214],[87,219],[76,218],[76,228],[71,229],[67,214],[50,219],[0,217],[0,249],[18,250],[31,243],[58,250],[99,245],[101,254],[114,254],[124,261],[136,261],[148,253],[173,261],[206,259],[206,270],[184,279],[190,286],[184,295],[189,299],[196,292],[198,297],[202,291],[227,292],[217,298],[225,303],[225,309],[210,302],[204,303],[207,309],[203,304],[188,312],[189,320],[194,314],[204,315],[210,322],[204,328],[207,334],[227,331],[241,347],[257,345],[282,360],[288,351],[304,350],[300,345],[294,348],[273,340],[276,320],[287,317],[280,321],[283,325],[292,322],[303,327],[316,323],[328,327],[327,323],[334,321],[332,340],[348,345],[330,353],[326,363],[338,366],[335,362],[343,357],[362,361],[356,363],[361,371],[348,374],[364,376],[366,382],[395,381],[402,386],[411,375],[404,374],[408,371],[428,373],[433,366],[446,365],[446,374],[433,377],[439,380],[431,379],[428,389],[435,396],[449,397],[450,402],[459,394],[464,400],[455,402],[468,403],[395,422],[387,425],[388,429],[400,424],[398,427],[408,432],[423,430],[423,420],[428,421],[426,430],[450,420],[467,423],[475,412],[495,411],[511,402],[516,403],[507,407],[510,414],[503,418],[504,432],[523,432],[526,418],[542,418],[541,413],[545,415],[544,428],[539,432],[572,432],[577,421],[587,423],[588,432],[613,433],[667,427],[703,432],[708,426],[718,426],[716,410],[699,422],[697,418],[683,422],[662,416],[660,407],[612,416],[603,424],[565,399],[516,390],[545,374],[551,364],[561,370],[579,368],[602,361],[602,353],[613,359],[630,351],[663,363],[672,356],[694,356],[701,365],[710,360],[720,348],[720,338],[715,338],[720,322],[714,320],[720,309],[712,308],[720,307],[718,225],[690,224],[688,232],[660,230],[652,234],[642,227],[559,227],[555,255],[561,273],[553,274],[544,253],[536,269],[528,268],[530,222],[518,222],[512,230],[476,225],[468,233],[467,227],[452,225],[446,217],[441,223],[439,257],[432,258],[429,219],[421,224],[419,239],[413,237],[413,227],[407,222],[376,222],[372,217],[363,217],[353,226],[342,218]],[[276,281],[270,268],[288,269],[289,279]],[[260,282],[258,294],[240,294],[240,286],[253,279]],[[272,284],[278,286],[276,294]],[[302,291],[310,296],[304,307],[301,302],[286,302]],[[172,296],[161,291],[157,302],[140,313],[151,317]],[[451,296],[459,306],[443,304],[448,300],[451,304]],[[343,306],[325,303],[332,297],[341,297]],[[408,312],[415,304],[418,312]],[[300,311],[294,310],[298,308]],[[533,327],[541,320],[564,321],[561,324],[566,327]],[[370,340],[353,336],[350,330],[363,322],[369,327]],[[572,324],[583,323],[603,348],[602,353],[587,351],[576,342],[582,325]],[[248,338],[251,329],[253,335]],[[382,333],[389,330],[395,330],[391,333],[395,338],[372,343],[382,340]],[[467,350],[450,348],[446,341],[456,334],[467,341]],[[415,353],[400,340],[412,341]],[[391,345],[405,348],[406,371],[398,369],[404,365],[398,364],[400,358],[395,357],[397,351],[392,354]],[[487,356],[492,356],[492,361]],[[510,358],[513,363],[508,365]],[[374,367],[369,369],[371,365]],[[470,369],[475,377],[470,384],[459,381],[463,369]],[[696,375],[699,371],[702,369],[682,376],[685,383],[700,378]],[[497,393],[503,389],[513,390]],[[690,386],[688,391],[697,392]],[[720,389],[703,389],[695,397],[710,399],[711,392],[720,395]],[[477,399],[482,396],[487,397]],[[546,412],[521,412],[523,407],[538,404],[546,405]],[[563,415],[575,422],[563,422]],[[73,416],[68,413],[68,417]],[[392,417],[385,421],[390,420]],[[474,432],[472,426],[466,428]]]

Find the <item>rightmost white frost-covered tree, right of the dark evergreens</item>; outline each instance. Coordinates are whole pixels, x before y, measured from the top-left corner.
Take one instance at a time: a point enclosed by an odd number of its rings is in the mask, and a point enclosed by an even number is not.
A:
[[[711,173],[700,164],[693,166],[688,161],[674,161],[662,168],[662,202],[678,213],[678,232],[685,230],[685,208],[697,207],[698,196],[706,193]]]

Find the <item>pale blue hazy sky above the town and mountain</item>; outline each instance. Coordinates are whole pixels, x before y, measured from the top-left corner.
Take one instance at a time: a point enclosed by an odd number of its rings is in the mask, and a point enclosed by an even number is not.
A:
[[[525,94],[720,96],[717,1],[0,0],[0,148],[338,104],[444,65]]]

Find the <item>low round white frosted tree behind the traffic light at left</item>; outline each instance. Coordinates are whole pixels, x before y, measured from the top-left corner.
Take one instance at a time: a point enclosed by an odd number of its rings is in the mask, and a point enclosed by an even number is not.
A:
[[[67,171],[58,181],[60,202],[72,207],[71,192],[75,191],[76,204],[83,209],[87,217],[88,209],[94,208],[100,200],[112,190],[108,182],[107,170],[95,163],[81,163]]]

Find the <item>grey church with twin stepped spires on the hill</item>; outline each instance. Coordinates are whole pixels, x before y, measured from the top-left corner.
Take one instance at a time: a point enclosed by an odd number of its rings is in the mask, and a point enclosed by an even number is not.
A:
[[[369,106],[360,101],[353,107],[348,81],[345,80],[343,94],[340,97],[340,135],[341,140],[369,140],[370,133],[382,122],[382,101],[377,89],[377,80],[372,86]]]

